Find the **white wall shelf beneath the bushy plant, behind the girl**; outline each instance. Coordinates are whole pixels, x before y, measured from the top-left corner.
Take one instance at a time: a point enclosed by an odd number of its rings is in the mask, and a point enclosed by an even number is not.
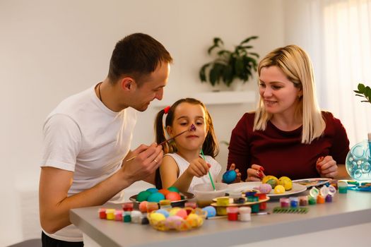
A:
[[[206,105],[215,104],[245,104],[255,102],[254,91],[219,91],[219,92],[196,92],[194,95],[164,97],[163,100],[151,102],[153,107],[166,107],[184,97],[193,97]]]

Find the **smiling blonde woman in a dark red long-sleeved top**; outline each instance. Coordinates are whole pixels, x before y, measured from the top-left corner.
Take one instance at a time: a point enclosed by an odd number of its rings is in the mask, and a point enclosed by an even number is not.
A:
[[[259,105],[233,129],[228,167],[246,181],[346,176],[346,130],[319,109],[307,53],[296,45],[273,50],[260,61],[258,80]]]

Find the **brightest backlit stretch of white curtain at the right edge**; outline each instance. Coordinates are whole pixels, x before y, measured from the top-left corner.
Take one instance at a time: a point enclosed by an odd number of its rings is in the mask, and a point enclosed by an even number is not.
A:
[[[358,83],[371,86],[371,0],[324,1],[322,14],[322,107],[341,119],[354,145],[371,132],[371,104],[353,92]]]

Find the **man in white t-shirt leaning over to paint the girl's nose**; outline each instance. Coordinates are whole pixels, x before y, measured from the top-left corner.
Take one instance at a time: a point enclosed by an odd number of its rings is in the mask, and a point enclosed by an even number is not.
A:
[[[153,37],[126,36],[114,48],[107,78],[47,116],[39,188],[43,246],[83,246],[69,210],[102,205],[135,181],[152,177],[162,147],[153,143],[131,151],[130,143],[136,111],[162,100],[171,62]]]

